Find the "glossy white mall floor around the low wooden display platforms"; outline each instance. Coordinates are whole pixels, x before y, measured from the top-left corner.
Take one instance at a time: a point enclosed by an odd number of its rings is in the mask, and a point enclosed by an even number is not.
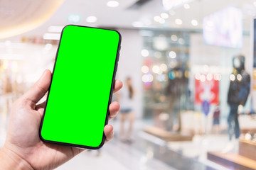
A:
[[[115,134],[119,133],[119,122],[114,121]],[[214,164],[208,161],[206,154],[208,151],[221,151],[228,143],[228,135],[196,135],[191,142],[168,142],[150,135],[144,134],[139,127],[143,126],[143,123],[137,121],[135,123],[138,137],[142,137],[150,142],[156,143],[156,145],[167,145],[169,149],[175,152],[181,153],[185,157],[191,159],[197,159],[198,162],[214,167],[214,169],[225,170],[223,166]],[[136,139],[135,139],[136,140]],[[146,148],[146,146],[145,146]],[[58,170],[65,169],[174,169],[173,167],[161,162],[161,159],[154,159],[153,152],[148,147],[146,153],[126,145],[114,137],[114,140],[109,142],[102,148],[100,155],[97,151],[82,152],[70,162],[63,164]]]

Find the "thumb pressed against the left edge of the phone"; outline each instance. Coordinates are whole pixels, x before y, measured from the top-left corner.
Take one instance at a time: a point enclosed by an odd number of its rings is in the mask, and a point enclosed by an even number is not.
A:
[[[36,81],[36,83],[29,89],[25,94],[23,94],[23,98],[26,101],[31,101],[33,104],[38,103],[41,98],[46,94],[50,86],[51,72],[46,69],[41,75],[40,79]]]

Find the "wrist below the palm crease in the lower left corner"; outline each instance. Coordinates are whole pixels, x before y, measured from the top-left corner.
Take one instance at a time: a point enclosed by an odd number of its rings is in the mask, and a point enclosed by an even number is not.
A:
[[[10,149],[3,147],[0,150],[0,169],[32,170],[33,168],[30,164],[28,164],[28,162],[26,162],[26,160],[18,156],[18,154],[12,152]]]

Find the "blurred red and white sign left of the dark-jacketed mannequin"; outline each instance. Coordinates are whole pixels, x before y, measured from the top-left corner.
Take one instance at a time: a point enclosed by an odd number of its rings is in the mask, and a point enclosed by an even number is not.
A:
[[[195,79],[195,102],[198,104],[208,101],[210,104],[219,103],[219,81],[201,74]]]

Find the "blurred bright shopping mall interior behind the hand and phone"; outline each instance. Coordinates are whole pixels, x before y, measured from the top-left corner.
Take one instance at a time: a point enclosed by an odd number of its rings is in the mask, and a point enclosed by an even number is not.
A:
[[[254,16],[255,0],[1,0],[0,147],[12,103],[75,24],[121,33],[117,79],[132,95],[114,139],[59,170],[256,169]]]

